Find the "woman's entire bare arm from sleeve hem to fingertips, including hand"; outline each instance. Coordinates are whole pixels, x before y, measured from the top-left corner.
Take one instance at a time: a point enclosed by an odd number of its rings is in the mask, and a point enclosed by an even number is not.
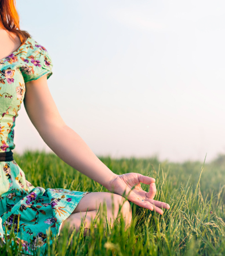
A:
[[[152,211],[155,209],[159,214],[163,214],[160,208],[169,209],[165,202],[153,199],[156,192],[155,179],[140,173],[115,175],[96,157],[84,140],[64,123],[50,94],[46,76],[26,83],[24,106],[45,143],[68,165],[116,194],[123,195],[125,192],[128,200],[140,207]],[[140,183],[150,184],[150,191],[143,191]]]

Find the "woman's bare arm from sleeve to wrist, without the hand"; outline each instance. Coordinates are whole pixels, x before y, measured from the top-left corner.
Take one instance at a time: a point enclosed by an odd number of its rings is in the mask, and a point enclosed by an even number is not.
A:
[[[63,121],[50,94],[46,76],[26,83],[24,106],[32,124],[56,155],[108,189],[108,183],[117,175]]]

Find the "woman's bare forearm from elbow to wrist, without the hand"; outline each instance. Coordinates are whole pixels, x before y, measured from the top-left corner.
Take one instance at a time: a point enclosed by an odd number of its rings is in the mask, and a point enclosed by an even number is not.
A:
[[[66,125],[47,129],[45,127],[45,130],[40,134],[45,143],[64,162],[110,189],[108,184],[117,175],[96,157],[74,130]]]

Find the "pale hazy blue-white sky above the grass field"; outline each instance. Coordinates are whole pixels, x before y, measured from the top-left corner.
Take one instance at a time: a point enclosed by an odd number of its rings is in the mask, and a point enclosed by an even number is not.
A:
[[[52,58],[60,115],[97,156],[225,154],[224,1],[23,0],[17,10]],[[24,106],[15,143],[50,151]]]

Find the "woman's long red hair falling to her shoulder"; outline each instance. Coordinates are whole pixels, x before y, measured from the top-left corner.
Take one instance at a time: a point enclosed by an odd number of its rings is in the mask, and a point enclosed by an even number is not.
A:
[[[20,17],[15,0],[0,0],[0,27],[16,34],[20,38],[21,45],[31,37],[27,31],[20,30]]]

